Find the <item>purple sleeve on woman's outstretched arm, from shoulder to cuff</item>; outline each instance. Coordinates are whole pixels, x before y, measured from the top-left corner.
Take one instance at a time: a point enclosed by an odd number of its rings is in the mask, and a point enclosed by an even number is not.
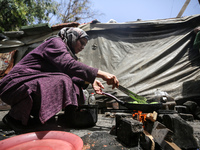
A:
[[[71,57],[65,43],[60,38],[53,38],[43,50],[45,60],[54,65],[60,72],[70,77],[78,77],[84,81],[93,83],[98,69],[87,66]]]

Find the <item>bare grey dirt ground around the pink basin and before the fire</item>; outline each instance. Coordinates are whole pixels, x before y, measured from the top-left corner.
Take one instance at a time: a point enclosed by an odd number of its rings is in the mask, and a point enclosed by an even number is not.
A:
[[[8,111],[0,111],[0,140],[17,136],[13,130],[9,129],[3,122],[2,118]],[[60,112],[58,115],[62,115]],[[61,130],[78,135],[84,143],[83,150],[138,150],[140,148],[127,148],[117,141],[116,136],[110,134],[112,127],[115,125],[115,118],[112,116],[105,116],[98,114],[98,121],[96,126],[83,129],[75,128],[55,128],[55,124],[39,127],[40,130]]]

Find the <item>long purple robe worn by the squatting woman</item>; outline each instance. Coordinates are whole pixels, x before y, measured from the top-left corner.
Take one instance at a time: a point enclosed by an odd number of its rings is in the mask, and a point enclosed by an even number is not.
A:
[[[0,81],[0,97],[11,105],[9,114],[27,124],[31,94],[41,96],[40,121],[46,122],[67,105],[78,106],[81,81],[93,83],[98,69],[71,57],[61,38],[42,43],[17,63]]]

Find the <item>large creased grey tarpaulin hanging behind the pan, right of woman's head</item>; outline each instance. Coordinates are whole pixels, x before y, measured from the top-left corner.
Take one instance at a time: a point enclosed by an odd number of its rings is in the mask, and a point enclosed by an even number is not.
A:
[[[115,74],[121,85],[147,98],[157,89],[175,100],[200,97],[200,54],[193,48],[193,29],[200,16],[86,24],[90,40],[81,62]],[[101,80],[102,81],[102,80]],[[103,82],[104,92],[124,96]],[[90,89],[88,89],[90,90]]]

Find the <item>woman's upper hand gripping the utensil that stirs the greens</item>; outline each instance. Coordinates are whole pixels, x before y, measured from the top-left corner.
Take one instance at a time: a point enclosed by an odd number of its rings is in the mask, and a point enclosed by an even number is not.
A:
[[[113,74],[99,70],[97,73],[97,77],[102,78],[104,81],[107,82],[108,85],[112,85],[112,89],[114,89],[115,87],[119,87],[119,81],[117,77]]]

